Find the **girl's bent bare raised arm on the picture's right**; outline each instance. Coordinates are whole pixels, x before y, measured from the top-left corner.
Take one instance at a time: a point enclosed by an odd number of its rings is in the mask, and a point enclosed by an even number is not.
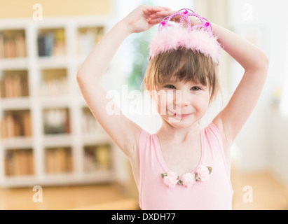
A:
[[[214,119],[231,145],[259,100],[268,74],[268,57],[262,50],[232,31],[212,24],[219,43],[245,69],[245,73],[227,106]]]

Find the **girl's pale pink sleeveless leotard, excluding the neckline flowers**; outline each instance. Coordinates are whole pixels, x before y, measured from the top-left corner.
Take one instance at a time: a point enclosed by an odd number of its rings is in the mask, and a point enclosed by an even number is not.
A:
[[[221,134],[214,123],[200,130],[201,159],[198,167],[212,167],[207,181],[191,188],[165,186],[160,174],[171,172],[165,165],[156,134],[142,130],[139,137],[139,205],[149,210],[231,210],[233,189],[224,158]],[[196,172],[198,169],[194,169]]]

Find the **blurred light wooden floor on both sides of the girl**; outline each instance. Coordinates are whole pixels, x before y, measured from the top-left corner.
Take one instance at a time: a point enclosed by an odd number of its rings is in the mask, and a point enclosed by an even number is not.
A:
[[[287,210],[288,191],[266,173],[233,174],[233,209]],[[42,202],[30,188],[0,188],[0,209],[139,209],[137,198],[116,184],[43,188]]]

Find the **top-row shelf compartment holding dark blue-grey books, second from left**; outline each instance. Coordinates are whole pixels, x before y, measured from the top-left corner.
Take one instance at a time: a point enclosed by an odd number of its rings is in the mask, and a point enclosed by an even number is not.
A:
[[[39,29],[37,41],[39,57],[66,55],[64,28]]]

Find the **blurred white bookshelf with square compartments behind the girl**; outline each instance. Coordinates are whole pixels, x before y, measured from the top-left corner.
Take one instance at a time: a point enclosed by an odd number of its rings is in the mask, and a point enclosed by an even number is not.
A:
[[[6,58],[5,55],[4,57],[3,55],[0,57],[0,78],[3,78],[8,71],[15,73],[18,73],[18,71],[27,71],[29,90],[29,95],[25,97],[1,96],[0,120],[4,120],[6,118],[5,116],[10,113],[29,111],[32,129],[31,136],[16,135],[12,137],[3,137],[3,134],[1,134],[3,130],[1,128],[0,186],[55,186],[78,183],[102,183],[115,180],[116,167],[114,165],[114,160],[118,157],[115,155],[115,151],[118,151],[118,149],[116,149],[117,146],[111,141],[104,130],[102,130],[102,127],[97,124],[96,120],[96,124],[92,124],[92,126],[96,125],[95,129],[93,126],[89,127],[90,131],[88,132],[83,130],[83,113],[87,113],[88,107],[85,104],[81,92],[78,89],[78,84],[76,83],[78,67],[85,59],[85,55],[79,54],[78,35],[85,30],[90,30],[90,33],[92,33],[92,31],[95,31],[96,28],[99,29],[99,27],[103,28],[102,31],[104,34],[111,28],[109,27],[111,24],[113,25],[113,22],[109,21],[109,18],[105,16],[44,18],[42,21],[34,21],[29,18],[0,20],[0,34],[2,32],[2,36],[5,36],[7,31],[13,32],[15,30],[20,30],[25,34],[26,47],[26,57]],[[62,29],[62,31],[64,31],[62,32],[62,34],[64,34],[64,55],[40,57],[38,51],[39,36],[43,31],[55,31],[55,29]],[[86,38],[85,35],[82,37]],[[88,35],[87,38],[91,37]],[[85,48],[87,52],[89,46],[86,45],[83,48]],[[53,76],[51,75],[51,73],[53,74],[53,71],[55,71],[55,73],[57,73],[56,71],[64,71],[64,75],[60,76],[67,79],[65,86],[65,88],[67,88],[66,94],[59,92],[52,96],[43,94],[43,80],[47,80],[47,77]],[[107,80],[109,80],[110,76],[109,71],[113,71],[113,63],[105,75],[107,76]],[[47,89],[53,88],[53,85],[58,84],[51,81],[46,87]],[[109,83],[104,83],[104,86],[109,88]],[[63,87],[63,85],[60,85],[60,87]],[[52,90],[49,91],[51,92]],[[44,111],[55,110],[57,112],[60,111],[60,109],[64,109],[67,112],[66,116],[68,118],[67,124],[69,124],[69,132],[45,133],[43,123],[46,122],[46,113],[44,113]],[[51,112],[51,114],[52,113],[53,112]],[[49,116],[52,115],[48,115],[48,117]],[[55,116],[54,120],[57,120],[57,115],[54,114],[53,116]],[[53,116],[50,118],[52,121]],[[4,127],[6,126],[4,125]],[[85,155],[85,148],[89,146],[95,147],[95,152],[97,152],[98,146],[109,146],[109,165],[105,166],[105,169],[95,168],[86,170],[85,167],[87,167],[87,164],[85,163],[88,161],[88,158],[86,158],[87,155]],[[47,152],[49,151],[49,148],[54,148],[54,151],[56,148],[66,148],[69,151],[71,155],[71,158],[69,159],[69,163],[71,162],[71,164],[69,164],[69,170],[64,170],[64,172],[59,170],[52,173],[48,172]],[[25,153],[27,152],[27,154],[30,152],[32,153],[31,161],[34,172],[23,174],[23,171],[20,170],[20,174],[18,174],[19,171],[15,172],[15,174],[13,172],[11,172],[12,174],[7,174],[7,170],[9,170],[7,167],[13,167],[13,165],[19,166],[19,164],[15,162],[18,160],[11,159],[13,158],[13,155],[19,152],[24,155],[26,155]],[[65,156],[69,155],[69,153]],[[89,160],[92,159],[89,158]],[[52,160],[49,158],[49,162],[51,161]],[[58,160],[58,162],[59,161],[62,160]],[[51,164],[53,164],[53,162]]]

